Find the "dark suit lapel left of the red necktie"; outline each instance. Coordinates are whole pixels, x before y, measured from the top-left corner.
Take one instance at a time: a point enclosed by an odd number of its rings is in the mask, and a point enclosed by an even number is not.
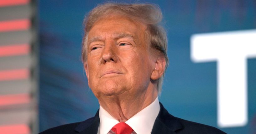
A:
[[[100,123],[99,110],[96,115],[81,122],[75,129],[80,134],[97,134]]]

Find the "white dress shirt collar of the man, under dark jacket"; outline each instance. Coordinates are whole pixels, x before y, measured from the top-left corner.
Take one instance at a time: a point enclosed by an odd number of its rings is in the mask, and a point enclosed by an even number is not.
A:
[[[128,124],[134,132],[132,134],[151,134],[155,119],[160,111],[158,97],[149,106],[142,109],[125,123]],[[100,125],[98,134],[108,134],[112,127],[118,122],[103,107],[100,106]],[[110,132],[111,133],[111,132]]]

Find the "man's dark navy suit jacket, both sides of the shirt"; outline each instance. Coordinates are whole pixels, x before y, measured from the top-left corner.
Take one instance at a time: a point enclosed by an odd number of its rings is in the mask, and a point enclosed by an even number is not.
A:
[[[96,115],[83,122],[66,124],[50,128],[40,134],[97,134],[100,123],[99,110]],[[186,121],[174,117],[168,113],[160,103],[160,111],[156,117],[151,134],[225,134],[221,130],[199,124],[196,122]]]

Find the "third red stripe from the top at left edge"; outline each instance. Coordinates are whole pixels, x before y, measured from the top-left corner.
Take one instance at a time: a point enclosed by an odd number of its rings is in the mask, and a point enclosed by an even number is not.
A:
[[[0,57],[3,56],[16,56],[29,54],[29,44],[15,44],[8,46],[0,46]]]

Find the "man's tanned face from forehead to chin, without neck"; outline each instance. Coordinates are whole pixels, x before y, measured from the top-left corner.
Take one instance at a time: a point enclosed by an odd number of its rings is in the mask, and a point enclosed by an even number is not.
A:
[[[148,88],[155,58],[149,53],[146,27],[128,17],[98,20],[88,34],[88,84],[97,98],[142,95]]]

